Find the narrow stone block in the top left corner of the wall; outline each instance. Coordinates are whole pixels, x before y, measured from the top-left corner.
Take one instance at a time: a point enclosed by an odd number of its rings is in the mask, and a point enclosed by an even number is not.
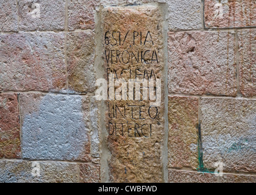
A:
[[[16,0],[0,1],[0,31],[18,31],[18,15],[16,10]]]

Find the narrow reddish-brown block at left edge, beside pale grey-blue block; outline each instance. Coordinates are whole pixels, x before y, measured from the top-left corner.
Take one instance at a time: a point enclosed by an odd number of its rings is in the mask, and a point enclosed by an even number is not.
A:
[[[17,94],[0,94],[0,158],[2,157],[21,157]]]

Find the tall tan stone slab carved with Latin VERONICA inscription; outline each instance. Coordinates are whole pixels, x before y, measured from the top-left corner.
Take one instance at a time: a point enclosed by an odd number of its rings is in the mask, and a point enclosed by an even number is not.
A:
[[[127,82],[135,77],[151,78],[154,82],[156,79],[164,80],[163,13],[158,7],[107,7],[102,12],[102,21],[106,79],[113,73],[115,82],[121,77]],[[111,51],[114,51],[113,56],[108,58]],[[141,57],[141,51],[144,57]],[[104,130],[108,132],[107,145],[111,153],[108,160],[110,181],[163,182],[163,86],[162,82],[162,101],[155,107],[151,107],[148,100],[142,100],[141,96],[141,101],[107,101]]]

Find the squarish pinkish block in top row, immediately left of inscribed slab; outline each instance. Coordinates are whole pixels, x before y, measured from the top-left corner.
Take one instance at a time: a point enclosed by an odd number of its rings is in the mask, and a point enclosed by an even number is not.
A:
[[[68,29],[94,29],[97,0],[68,0]]]

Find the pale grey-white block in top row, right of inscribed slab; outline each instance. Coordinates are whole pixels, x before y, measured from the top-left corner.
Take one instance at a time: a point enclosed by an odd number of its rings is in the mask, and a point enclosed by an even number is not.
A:
[[[169,29],[202,29],[201,0],[168,0]]]

